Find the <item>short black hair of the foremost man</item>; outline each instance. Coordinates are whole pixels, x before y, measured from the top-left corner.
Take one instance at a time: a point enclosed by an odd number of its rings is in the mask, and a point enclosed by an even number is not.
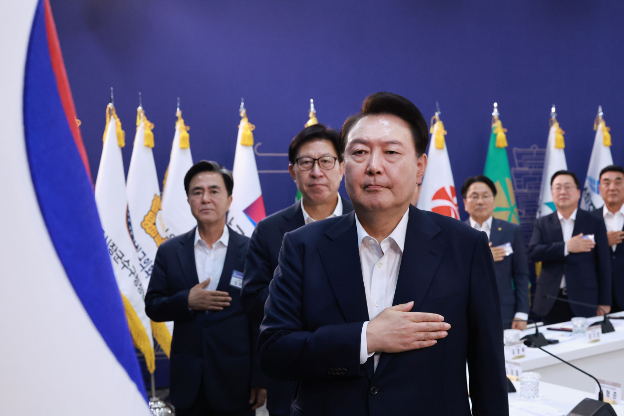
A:
[[[417,156],[421,156],[427,150],[429,143],[429,129],[427,121],[422,117],[421,111],[406,97],[393,94],[392,92],[376,92],[364,99],[359,114],[349,117],[340,131],[340,152],[344,152],[346,139],[356,122],[362,117],[376,116],[378,114],[390,114],[399,117],[407,123],[412,132]]]

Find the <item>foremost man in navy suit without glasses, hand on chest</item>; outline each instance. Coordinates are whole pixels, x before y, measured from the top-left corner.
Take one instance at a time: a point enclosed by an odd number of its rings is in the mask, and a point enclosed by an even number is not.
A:
[[[507,415],[502,324],[484,233],[410,205],[421,112],[379,92],[341,131],[354,212],[284,235],[258,340],[291,415]]]

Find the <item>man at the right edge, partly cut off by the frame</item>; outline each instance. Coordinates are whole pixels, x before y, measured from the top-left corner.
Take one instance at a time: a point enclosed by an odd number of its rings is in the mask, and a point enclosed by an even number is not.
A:
[[[607,166],[600,171],[598,191],[605,205],[593,214],[604,220],[610,245],[612,296],[611,312],[624,310],[624,169],[622,166]]]

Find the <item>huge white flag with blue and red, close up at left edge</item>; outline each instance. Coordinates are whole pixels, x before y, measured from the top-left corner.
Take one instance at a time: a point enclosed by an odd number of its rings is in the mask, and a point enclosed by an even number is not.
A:
[[[49,2],[1,2],[0,39],[2,410],[147,416]]]

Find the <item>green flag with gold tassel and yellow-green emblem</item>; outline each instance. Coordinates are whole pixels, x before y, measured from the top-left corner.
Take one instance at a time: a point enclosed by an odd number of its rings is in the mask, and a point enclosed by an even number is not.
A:
[[[490,146],[487,149],[484,175],[496,186],[494,218],[520,224],[518,206],[515,202],[514,186],[507,159],[507,137],[497,116],[492,119]]]

